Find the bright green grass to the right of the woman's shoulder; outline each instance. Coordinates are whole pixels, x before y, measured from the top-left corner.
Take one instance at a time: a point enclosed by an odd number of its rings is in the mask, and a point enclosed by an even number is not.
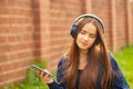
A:
[[[116,61],[127,81],[131,89],[133,89],[133,46],[126,47],[120,50],[117,53],[114,55]]]

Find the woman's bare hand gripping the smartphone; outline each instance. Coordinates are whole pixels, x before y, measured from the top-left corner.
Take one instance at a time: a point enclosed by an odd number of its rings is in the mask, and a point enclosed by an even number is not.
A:
[[[44,82],[44,83],[52,83],[53,82],[53,78],[49,75],[45,75],[41,71],[38,72],[38,76],[41,78],[41,80]]]

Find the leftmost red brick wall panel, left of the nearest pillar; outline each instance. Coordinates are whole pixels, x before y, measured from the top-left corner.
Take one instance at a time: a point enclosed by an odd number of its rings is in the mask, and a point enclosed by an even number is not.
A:
[[[33,32],[30,0],[0,1],[0,85],[24,78],[34,50]]]

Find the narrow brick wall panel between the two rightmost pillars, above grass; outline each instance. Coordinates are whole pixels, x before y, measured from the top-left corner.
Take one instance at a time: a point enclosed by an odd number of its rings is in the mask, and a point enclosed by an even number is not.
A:
[[[116,0],[115,1],[115,12],[116,12],[116,50],[124,47],[127,43],[126,34],[126,0]]]

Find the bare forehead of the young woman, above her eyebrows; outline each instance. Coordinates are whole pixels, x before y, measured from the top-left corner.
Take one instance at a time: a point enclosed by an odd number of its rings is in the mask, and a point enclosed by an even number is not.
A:
[[[82,30],[96,33],[96,27],[93,23],[86,23]]]

